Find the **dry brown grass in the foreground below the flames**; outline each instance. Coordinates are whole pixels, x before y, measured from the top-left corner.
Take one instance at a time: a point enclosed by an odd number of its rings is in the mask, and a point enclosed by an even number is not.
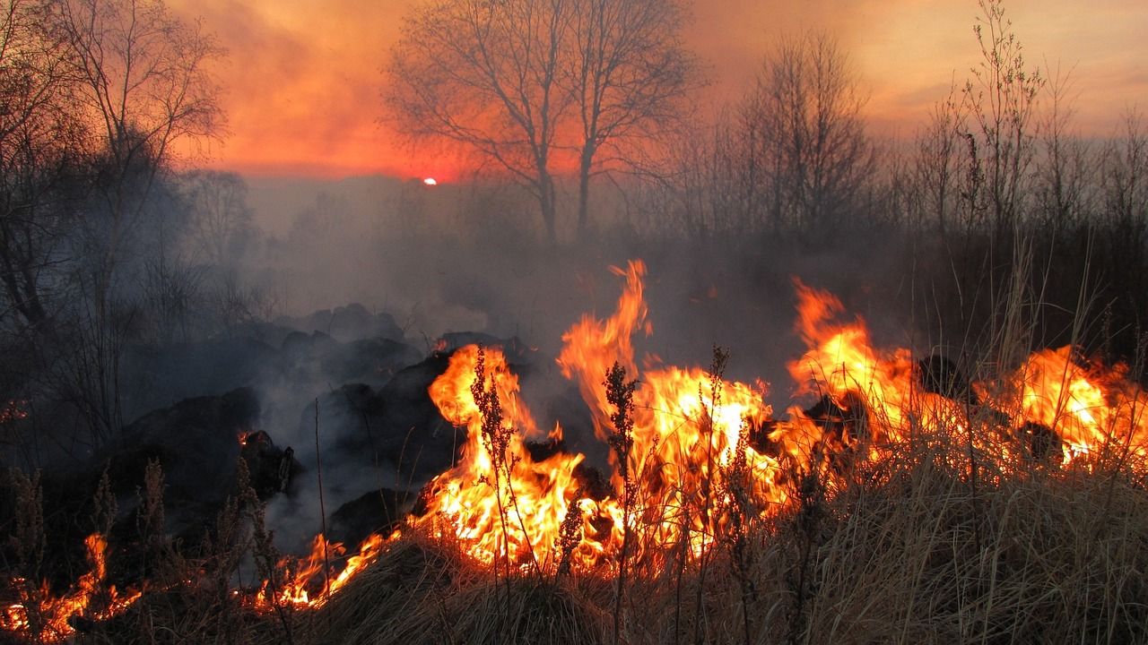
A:
[[[628,578],[626,643],[1142,643],[1142,465],[1030,468],[974,488],[954,446],[921,442],[769,521],[743,551]],[[985,463],[987,472],[1001,465]],[[641,529],[637,529],[641,530]],[[87,643],[607,643],[612,572],[509,583],[411,535],[331,601],[282,620],[226,597],[147,595]],[[747,592],[746,592],[747,589]]]

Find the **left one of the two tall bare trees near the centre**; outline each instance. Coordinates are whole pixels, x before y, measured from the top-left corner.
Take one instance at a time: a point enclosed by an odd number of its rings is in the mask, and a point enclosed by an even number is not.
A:
[[[463,143],[538,200],[554,242],[553,156],[569,0],[449,0],[416,9],[387,68],[386,103],[414,141]]]

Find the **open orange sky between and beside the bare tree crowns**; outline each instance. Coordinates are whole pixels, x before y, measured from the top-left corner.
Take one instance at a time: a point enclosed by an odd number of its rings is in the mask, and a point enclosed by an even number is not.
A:
[[[215,168],[250,174],[445,176],[457,160],[410,151],[379,124],[381,68],[403,14],[420,0],[169,0],[227,48],[218,70],[228,133]],[[1148,2],[1011,0],[1030,64],[1075,67],[1077,125],[1108,133],[1148,109]],[[698,0],[687,39],[714,83],[742,93],[783,33],[827,30],[850,53],[879,133],[912,134],[951,80],[977,62],[975,0]]]

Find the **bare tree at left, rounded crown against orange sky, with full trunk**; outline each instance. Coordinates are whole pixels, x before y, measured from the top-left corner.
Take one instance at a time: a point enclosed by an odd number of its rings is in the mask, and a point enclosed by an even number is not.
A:
[[[121,357],[146,318],[146,303],[122,292],[156,275],[171,282],[164,250],[170,209],[166,191],[156,187],[168,178],[177,141],[200,141],[222,127],[209,71],[222,50],[163,0],[49,0],[45,7],[47,29],[65,46],[69,114],[90,141],[87,195],[71,249],[76,345],[55,381],[98,441],[123,422]],[[155,244],[133,244],[147,228],[156,230]],[[155,263],[140,257],[133,264],[139,280],[121,279],[135,254],[150,254],[164,270],[149,278]]]

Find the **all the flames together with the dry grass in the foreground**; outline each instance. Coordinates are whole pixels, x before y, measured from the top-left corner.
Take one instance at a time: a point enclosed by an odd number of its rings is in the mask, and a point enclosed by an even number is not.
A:
[[[720,348],[708,368],[653,357],[639,368],[633,337],[652,334],[645,266],[615,273],[616,311],[573,325],[557,358],[610,446],[607,476],[565,449],[560,425],[538,426],[502,348],[467,344],[428,388],[465,444],[397,530],[354,554],[320,534],[308,557],[281,557],[241,460],[236,495],[199,557],[184,555],[164,542],[162,474],[149,465],[137,523],[158,514],[160,528],[147,529],[158,542],[134,547],[157,544],[169,564],[145,567],[152,575],[119,592],[108,582],[108,536],[92,534],[90,570],[67,590],[7,578],[0,629],[24,642],[123,642],[125,625],[155,619],[154,598],[181,596],[209,599],[205,615],[232,615],[216,640],[331,642],[321,624],[356,643],[381,637],[364,625],[387,624],[395,638],[434,629],[448,642],[666,642],[691,631],[885,640],[875,616],[899,616],[890,624],[913,642],[998,642],[1022,629],[1044,640],[1065,624],[1148,636],[1148,586],[1135,573],[1148,538],[1148,395],[1126,366],[1064,347],[971,380],[947,358],[875,347],[835,296],[796,281],[806,351],[788,370],[804,403],[775,415],[766,383],[726,379]],[[20,481],[13,544],[28,568],[45,557],[41,503],[38,481]],[[243,558],[261,582],[235,577]],[[899,582],[878,583],[878,572]],[[1070,597],[1049,576],[1103,593]],[[907,605],[871,601],[909,581],[897,588]],[[473,607],[483,596],[496,607]],[[1039,611],[1013,614],[1019,603]],[[497,617],[470,636],[473,616],[447,613],[482,607]],[[437,622],[420,622],[428,615]],[[977,622],[944,622],[959,615]],[[862,636],[843,634],[845,623]]]

